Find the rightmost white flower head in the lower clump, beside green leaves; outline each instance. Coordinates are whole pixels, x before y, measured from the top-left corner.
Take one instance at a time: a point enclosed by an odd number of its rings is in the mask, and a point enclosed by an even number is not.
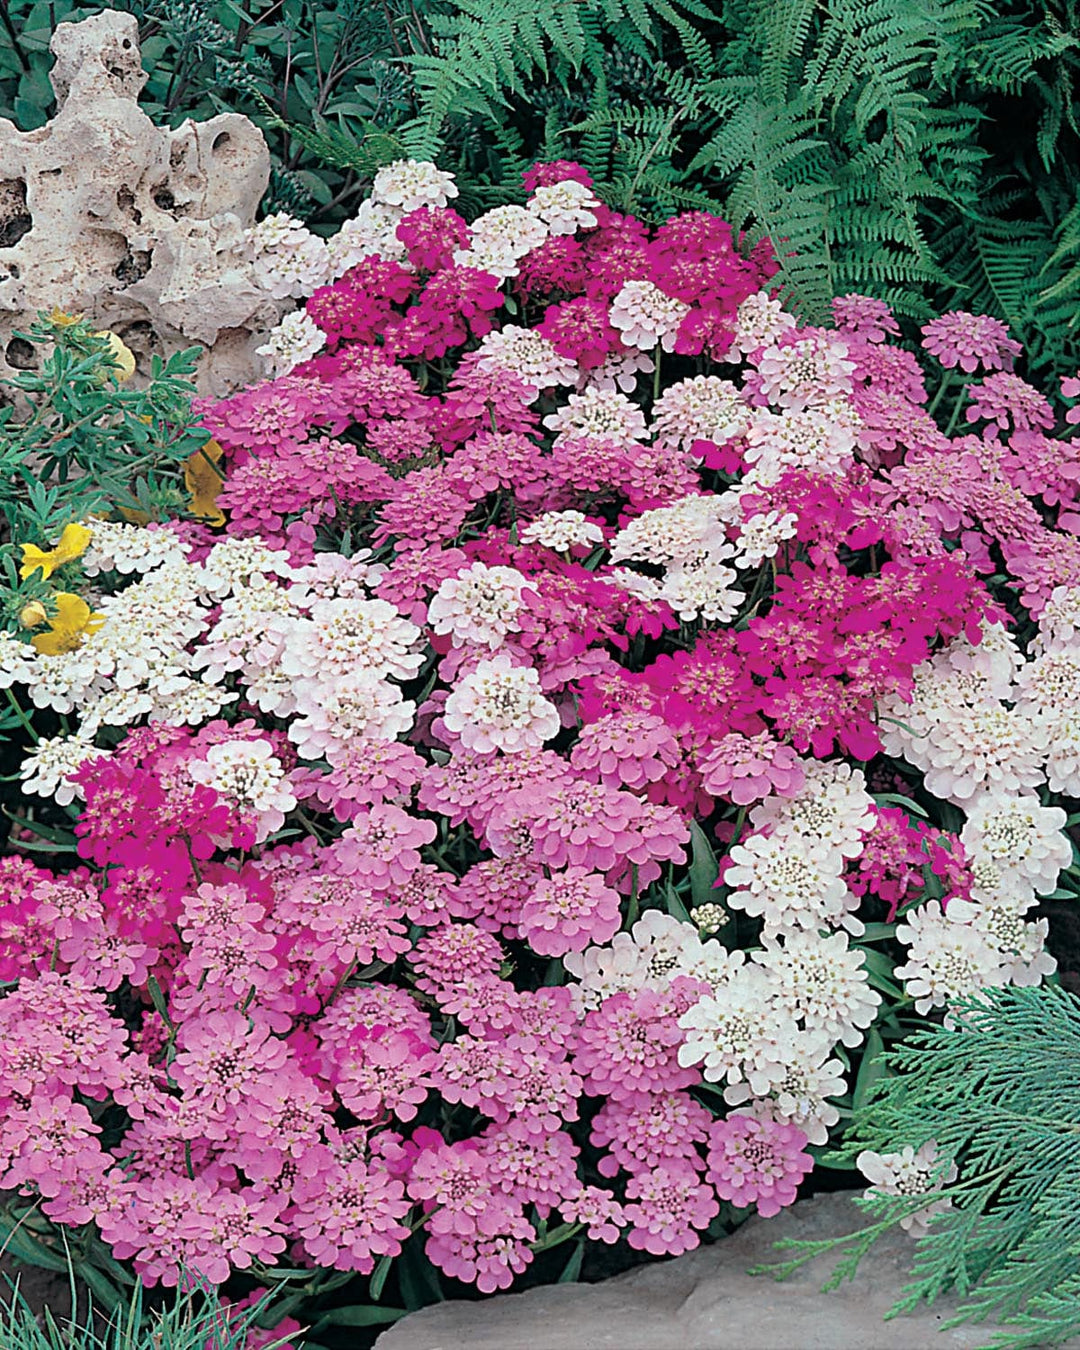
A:
[[[770,944],[753,960],[772,975],[780,1007],[809,1031],[826,1033],[830,1044],[860,1044],[882,996],[867,981],[865,953],[848,949],[846,933],[790,933],[783,946]]]

